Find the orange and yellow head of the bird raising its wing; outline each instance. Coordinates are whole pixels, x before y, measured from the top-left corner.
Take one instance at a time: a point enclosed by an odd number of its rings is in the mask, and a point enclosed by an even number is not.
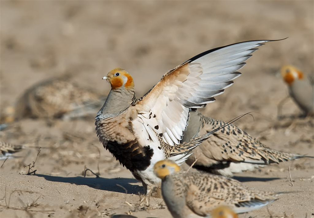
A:
[[[102,79],[106,79],[108,82],[110,82],[112,89],[123,87],[127,89],[134,88],[133,78],[126,70],[121,68],[113,69],[107,74],[106,77],[103,77]]]

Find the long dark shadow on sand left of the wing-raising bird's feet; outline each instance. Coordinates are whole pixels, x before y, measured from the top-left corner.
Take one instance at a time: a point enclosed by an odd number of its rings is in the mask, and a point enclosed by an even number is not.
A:
[[[112,192],[125,193],[125,190],[120,186],[127,189],[127,194],[143,194],[143,187],[137,184],[138,181],[134,178],[90,178],[90,177],[61,177],[61,176],[50,176],[44,174],[36,174],[35,176],[43,177],[48,181],[61,182],[61,183],[71,183],[76,185],[87,185],[93,189],[100,189]],[[117,185],[118,184],[118,185]]]

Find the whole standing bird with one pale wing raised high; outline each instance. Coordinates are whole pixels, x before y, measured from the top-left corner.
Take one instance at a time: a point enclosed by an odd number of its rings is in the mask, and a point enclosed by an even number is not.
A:
[[[181,164],[201,140],[181,143],[192,110],[213,102],[241,75],[258,46],[270,40],[236,43],[205,51],[168,71],[142,98],[136,99],[131,75],[121,68],[106,79],[111,91],[95,118],[100,142],[135,178],[150,189],[160,183],[156,162],[169,158]],[[189,149],[187,145],[191,143]]]

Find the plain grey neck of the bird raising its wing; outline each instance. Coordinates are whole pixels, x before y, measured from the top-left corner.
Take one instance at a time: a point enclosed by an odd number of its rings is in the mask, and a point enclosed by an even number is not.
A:
[[[130,107],[134,96],[133,90],[111,89],[105,104],[102,106],[98,114],[114,114],[120,111],[124,111]]]

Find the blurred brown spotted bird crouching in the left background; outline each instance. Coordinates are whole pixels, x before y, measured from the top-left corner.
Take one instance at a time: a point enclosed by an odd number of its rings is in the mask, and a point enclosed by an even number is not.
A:
[[[103,99],[99,93],[69,81],[69,76],[52,78],[24,92],[14,109],[14,120],[87,116],[97,112]]]

